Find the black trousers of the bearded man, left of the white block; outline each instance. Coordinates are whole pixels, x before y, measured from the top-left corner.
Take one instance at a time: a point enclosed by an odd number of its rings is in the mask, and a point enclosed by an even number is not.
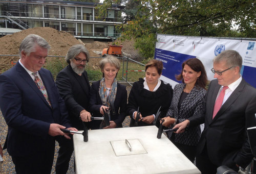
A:
[[[74,151],[73,136],[67,139],[64,136],[57,136],[56,140],[59,143],[59,152],[56,161],[55,171],[57,174],[66,174],[69,169],[69,162]],[[75,165],[75,163],[74,163]]]

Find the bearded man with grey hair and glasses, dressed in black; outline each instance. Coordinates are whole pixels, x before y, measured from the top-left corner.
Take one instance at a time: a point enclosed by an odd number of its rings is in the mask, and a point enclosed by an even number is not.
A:
[[[56,84],[67,106],[71,124],[78,130],[83,130],[82,121],[91,121],[90,83],[87,72],[84,70],[89,59],[89,52],[84,45],[71,46],[66,55],[69,65],[62,69],[56,78]],[[58,142],[60,148],[55,170],[56,173],[66,173],[74,150],[73,142],[63,137]],[[66,163],[66,167],[63,168],[61,163]]]

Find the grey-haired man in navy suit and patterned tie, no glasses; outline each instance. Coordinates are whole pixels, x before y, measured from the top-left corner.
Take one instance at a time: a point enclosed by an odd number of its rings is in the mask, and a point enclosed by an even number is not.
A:
[[[55,136],[71,128],[65,103],[44,66],[50,45],[38,35],[20,44],[20,59],[0,75],[0,107],[8,125],[7,151],[16,173],[50,173]]]

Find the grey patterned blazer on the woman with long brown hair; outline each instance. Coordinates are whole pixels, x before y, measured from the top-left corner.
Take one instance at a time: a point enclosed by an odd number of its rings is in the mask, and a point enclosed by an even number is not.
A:
[[[185,119],[194,116],[202,111],[204,97],[206,90],[195,86],[191,92],[184,98],[181,103],[180,109],[178,109],[178,103],[181,93],[185,88],[185,84],[177,84],[174,87],[174,95],[172,104],[170,104],[169,110],[166,116],[177,119],[177,123],[184,121]],[[194,127],[185,131],[182,134],[175,134],[175,142],[186,145],[197,145],[200,139],[200,126]]]

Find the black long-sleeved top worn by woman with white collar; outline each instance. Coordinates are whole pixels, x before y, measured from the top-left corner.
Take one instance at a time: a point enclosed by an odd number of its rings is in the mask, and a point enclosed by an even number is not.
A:
[[[138,82],[134,82],[129,94],[127,114],[131,117],[131,126],[134,125],[133,113],[137,111],[138,107],[140,107],[139,112],[142,117],[145,117],[156,114],[161,106],[160,118],[162,118],[166,115],[170,103],[172,102],[173,88],[169,84],[164,84],[163,81],[161,81],[159,88],[155,92],[152,92],[144,89],[143,83],[144,80],[141,78]],[[148,126],[147,123],[142,121],[139,121],[138,125]]]

